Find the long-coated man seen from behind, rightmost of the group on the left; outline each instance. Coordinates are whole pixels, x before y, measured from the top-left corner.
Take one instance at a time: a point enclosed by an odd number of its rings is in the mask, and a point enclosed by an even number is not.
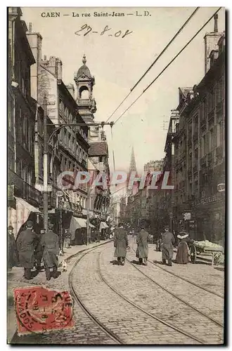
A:
[[[44,267],[46,279],[51,279],[50,268],[53,269],[53,277],[58,278],[58,253],[59,253],[59,238],[53,232],[53,223],[49,223],[49,230],[41,237],[41,246],[44,247]]]

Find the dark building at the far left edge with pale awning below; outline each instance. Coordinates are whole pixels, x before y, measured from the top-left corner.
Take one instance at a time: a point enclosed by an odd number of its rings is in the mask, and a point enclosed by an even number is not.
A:
[[[37,101],[30,92],[30,67],[35,61],[21,16],[20,8],[8,8],[8,223],[15,236],[41,203],[34,187]]]

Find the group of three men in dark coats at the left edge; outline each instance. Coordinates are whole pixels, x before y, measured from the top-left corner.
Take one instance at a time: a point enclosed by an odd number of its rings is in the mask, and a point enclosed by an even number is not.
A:
[[[25,279],[32,279],[34,266],[39,272],[41,260],[44,260],[46,279],[58,277],[59,239],[53,232],[53,223],[48,224],[48,230],[41,229],[40,234],[33,230],[32,221],[28,220],[26,229],[18,234],[15,241],[13,227],[8,227],[8,269],[14,265],[24,268]],[[52,272],[51,272],[52,270]]]

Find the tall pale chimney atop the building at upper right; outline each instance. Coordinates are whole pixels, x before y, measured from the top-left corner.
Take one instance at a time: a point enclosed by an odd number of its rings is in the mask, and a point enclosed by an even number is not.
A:
[[[218,41],[223,35],[223,33],[218,32],[218,15],[214,15],[214,32],[206,33],[204,40],[205,40],[205,74],[210,69],[210,53],[214,51],[218,51]]]

